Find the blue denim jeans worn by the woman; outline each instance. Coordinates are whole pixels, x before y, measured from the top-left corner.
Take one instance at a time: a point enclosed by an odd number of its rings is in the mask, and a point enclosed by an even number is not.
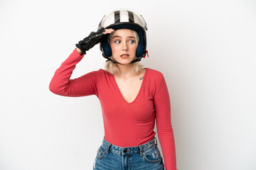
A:
[[[93,170],[164,170],[164,163],[155,137],[137,147],[117,147],[103,138]]]

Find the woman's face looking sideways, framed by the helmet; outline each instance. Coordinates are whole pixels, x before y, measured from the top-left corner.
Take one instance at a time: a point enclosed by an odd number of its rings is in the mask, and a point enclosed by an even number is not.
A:
[[[129,29],[115,30],[110,39],[114,61],[129,64],[136,57],[137,44],[134,33]]]

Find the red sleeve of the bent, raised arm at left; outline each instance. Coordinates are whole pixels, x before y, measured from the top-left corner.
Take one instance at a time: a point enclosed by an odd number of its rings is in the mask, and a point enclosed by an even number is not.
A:
[[[75,65],[82,60],[84,55],[80,55],[75,49],[70,56],[55,71],[50,81],[49,89],[54,94],[60,96],[88,96],[97,94],[97,71],[90,72],[77,79],[70,79]]]

